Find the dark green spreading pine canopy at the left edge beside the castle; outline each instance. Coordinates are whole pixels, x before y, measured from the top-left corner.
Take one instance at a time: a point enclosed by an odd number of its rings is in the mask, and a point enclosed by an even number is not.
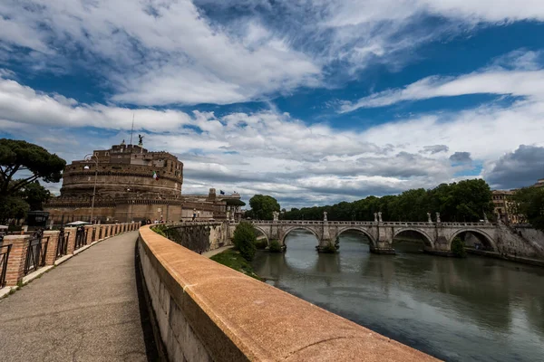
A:
[[[0,196],[15,195],[37,179],[59,182],[66,161],[45,148],[15,139],[0,139]],[[17,172],[30,174],[14,180]]]

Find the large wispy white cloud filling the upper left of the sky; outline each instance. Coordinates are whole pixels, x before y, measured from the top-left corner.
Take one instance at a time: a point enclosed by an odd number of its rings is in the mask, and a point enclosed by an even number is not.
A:
[[[27,3],[0,5],[0,40],[46,53],[83,48],[93,71],[106,72],[115,101],[231,103],[318,84],[320,66],[281,37],[264,37],[255,24],[245,44],[189,0]]]

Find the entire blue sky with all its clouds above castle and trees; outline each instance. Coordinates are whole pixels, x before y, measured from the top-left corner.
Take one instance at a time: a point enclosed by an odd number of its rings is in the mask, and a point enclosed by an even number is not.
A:
[[[72,161],[128,140],[134,114],[190,194],[288,208],[528,186],[544,177],[542,84],[539,0],[0,4],[0,137]]]

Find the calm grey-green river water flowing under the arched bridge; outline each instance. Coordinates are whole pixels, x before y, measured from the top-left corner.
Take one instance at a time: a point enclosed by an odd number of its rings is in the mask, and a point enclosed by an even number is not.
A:
[[[452,361],[543,361],[544,270],[481,257],[369,252],[364,235],[344,233],[338,254],[317,254],[303,230],[286,253],[259,252],[268,283],[413,348]]]

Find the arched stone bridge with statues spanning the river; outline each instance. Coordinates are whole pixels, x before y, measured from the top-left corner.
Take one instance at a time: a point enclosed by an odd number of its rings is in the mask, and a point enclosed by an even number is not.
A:
[[[411,222],[361,222],[361,221],[304,221],[274,220],[252,221],[257,231],[267,240],[277,240],[286,246],[287,234],[293,230],[306,230],[316,235],[317,250],[326,245],[338,247],[338,237],[347,231],[363,233],[369,240],[371,252],[394,253],[393,239],[404,232],[417,233],[424,243],[425,252],[448,254],[452,241],[463,233],[476,236],[486,250],[497,252],[500,228],[494,223],[411,223]]]

